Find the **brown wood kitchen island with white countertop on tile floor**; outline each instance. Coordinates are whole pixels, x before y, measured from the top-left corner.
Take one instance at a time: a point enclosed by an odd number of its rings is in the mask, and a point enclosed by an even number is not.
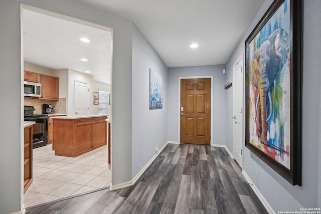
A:
[[[55,155],[76,157],[107,144],[106,115],[53,117]]]

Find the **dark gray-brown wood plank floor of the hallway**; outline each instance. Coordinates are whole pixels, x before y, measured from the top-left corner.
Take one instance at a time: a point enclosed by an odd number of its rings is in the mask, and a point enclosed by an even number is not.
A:
[[[221,147],[168,144],[133,186],[27,209],[31,213],[268,213]]]

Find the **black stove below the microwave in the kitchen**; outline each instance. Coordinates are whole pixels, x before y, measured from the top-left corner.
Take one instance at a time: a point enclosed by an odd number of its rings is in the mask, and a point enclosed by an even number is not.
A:
[[[45,146],[48,144],[48,114],[34,114],[33,106],[24,106],[24,120],[34,121],[33,125],[33,148]]]

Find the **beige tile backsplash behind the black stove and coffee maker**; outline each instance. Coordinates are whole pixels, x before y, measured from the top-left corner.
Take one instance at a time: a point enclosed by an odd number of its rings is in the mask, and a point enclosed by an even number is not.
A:
[[[54,109],[54,114],[66,114],[67,112],[66,98],[59,98],[59,100],[39,100],[30,97],[25,97],[24,99],[25,106],[35,107],[34,114],[42,114],[43,104],[51,104],[52,108]]]

